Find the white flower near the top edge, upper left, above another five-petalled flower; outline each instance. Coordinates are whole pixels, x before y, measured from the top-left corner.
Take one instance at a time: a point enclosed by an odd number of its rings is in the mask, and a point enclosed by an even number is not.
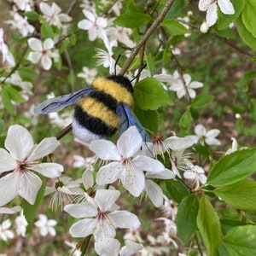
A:
[[[51,6],[49,6],[48,3],[41,2],[39,3],[39,8],[49,25],[55,25],[61,29],[63,26],[62,23],[67,23],[72,20],[69,15],[61,13],[61,8],[56,3],[52,3]]]

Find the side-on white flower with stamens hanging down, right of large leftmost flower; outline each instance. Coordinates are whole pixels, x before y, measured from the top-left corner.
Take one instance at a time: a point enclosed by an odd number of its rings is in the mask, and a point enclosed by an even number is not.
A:
[[[73,201],[73,195],[82,195],[84,190],[80,189],[81,178],[72,180],[71,177],[61,176],[55,183],[55,187],[46,186],[44,195],[53,194],[49,202],[49,207],[53,210],[57,207],[63,209],[64,205],[67,205]]]

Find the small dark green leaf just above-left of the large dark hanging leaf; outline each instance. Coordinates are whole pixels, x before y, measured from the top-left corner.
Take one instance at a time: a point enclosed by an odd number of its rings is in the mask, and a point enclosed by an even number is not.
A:
[[[167,195],[177,203],[180,203],[185,196],[189,195],[187,187],[179,180],[166,180],[165,184]]]

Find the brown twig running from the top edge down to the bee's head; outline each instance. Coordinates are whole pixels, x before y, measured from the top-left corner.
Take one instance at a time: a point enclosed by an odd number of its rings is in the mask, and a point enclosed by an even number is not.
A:
[[[143,44],[145,44],[145,42],[148,40],[148,38],[152,35],[154,30],[157,28],[157,26],[160,25],[160,22],[162,20],[164,20],[166,14],[167,14],[168,10],[171,8],[173,2],[174,2],[173,0],[167,1],[166,6],[162,9],[162,12],[160,13],[160,15],[154,20],[153,24],[148,28],[148,31],[143,35],[143,38],[141,39],[141,41],[131,51],[131,55],[129,56],[129,58],[125,62],[125,65],[121,68],[121,70],[119,72],[120,75],[124,75],[126,73],[126,71],[128,70],[128,68],[131,65],[131,62],[136,57],[138,51],[143,47]]]

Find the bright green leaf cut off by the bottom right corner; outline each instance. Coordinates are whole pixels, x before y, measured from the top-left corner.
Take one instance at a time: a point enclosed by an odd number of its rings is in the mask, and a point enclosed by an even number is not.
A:
[[[232,256],[256,255],[256,226],[235,227],[224,236],[224,247]]]

